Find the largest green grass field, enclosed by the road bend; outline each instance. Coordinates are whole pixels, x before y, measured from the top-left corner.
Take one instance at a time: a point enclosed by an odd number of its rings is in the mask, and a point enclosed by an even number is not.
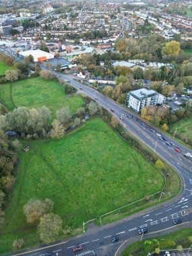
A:
[[[26,224],[23,214],[30,198],[52,199],[63,228],[78,228],[164,185],[162,174],[100,118],[63,139],[29,141],[26,146],[31,150],[20,153],[13,198],[0,232],[1,253],[11,249],[15,238],[24,238],[26,247],[38,243],[36,229]]]

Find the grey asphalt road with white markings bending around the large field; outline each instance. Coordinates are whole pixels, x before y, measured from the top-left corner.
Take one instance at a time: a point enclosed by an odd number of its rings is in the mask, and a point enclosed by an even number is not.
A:
[[[44,65],[41,65],[41,68],[48,69]],[[139,228],[148,228],[148,233],[143,235],[143,237],[145,237],[152,232],[160,232],[160,230],[166,230],[167,228],[173,227],[174,224],[172,220],[178,217],[182,218],[183,223],[186,223],[188,226],[192,226],[192,162],[183,156],[185,152],[190,152],[192,154],[191,150],[179,144],[177,141],[174,141],[167,135],[163,135],[166,137],[167,141],[172,141],[175,145],[166,146],[166,141],[160,141],[158,139],[158,135],[156,135],[156,133],[160,133],[160,135],[162,135],[161,131],[158,131],[157,129],[155,129],[156,132],[150,131],[152,127],[145,127],[145,122],[140,119],[137,121],[137,118],[133,119],[132,115],[131,118],[127,118],[126,115],[130,115],[129,110],[126,110],[117,104],[117,102],[103,96],[93,88],[89,88],[79,82],[76,82],[74,77],[71,75],[63,75],[52,70],[51,72],[57,75],[57,77],[65,79],[65,81],[69,82],[71,86],[77,88],[79,92],[84,92],[93,99],[96,98],[96,102],[107,110],[110,111],[113,109],[114,112],[111,113],[119,119],[127,131],[142,141],[146,146],[148,146],[148,148],[154,150],[160,158],[166,161],[179,173],[183,187],[179,197],[171,200],[170,202],[162,203],[162,205],[158,205],[158,207],[153,207],[152,209],[154,210],[148,209],[143,211],[145,212],[144,214],[141,212],[113,224],[90,228],[90,230],[84,234],[70,238],[69,241],[57,242],[57,245],[47,245],[43,248],[36,247],[26,252],[18,253],[17,255],[39,256],[44,255],[45,253],[52,253],[57,256],[112,256],[115,255],[118,247],[124,241],[138,236]],[[123,117],[123,120],[121,120],[120,117]],[[181,149],[180,153],[174,150],[176,146],[179,146]],[[112,243],[111,238],[113,236],[118,236],[119,241]],[[83,245],[84,249],[74,253],[73,246],[75,245]]]

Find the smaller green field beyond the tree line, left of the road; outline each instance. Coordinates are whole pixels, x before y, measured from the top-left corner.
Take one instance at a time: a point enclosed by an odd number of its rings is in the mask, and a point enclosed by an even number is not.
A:
[[[47,106],[53,115],[55,110],[65,106],[75,113],[84,103],[80,96],[66,96],[63,87],[57,82],[45,81],[41,77],[13,82],[12,86],[11,83],[0,84],[0,100],[9,110],[18,106]]]

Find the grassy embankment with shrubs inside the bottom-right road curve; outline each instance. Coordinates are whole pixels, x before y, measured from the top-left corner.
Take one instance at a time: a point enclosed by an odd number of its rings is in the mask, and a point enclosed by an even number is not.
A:
[[[164,236],[159,236],[146,241],[139,241],[129,245],[121,256],[148,255],[149,252],[154,252],[156,247],[158,247],[158,242],[161,250],[176,249],[177,245],[182,245],[183,248],[187,249],[191,246],[191,243],[187,241],[188,236],[191,236],[191,228],[170,232]],[[175,245],[172,242],[174,242]]]

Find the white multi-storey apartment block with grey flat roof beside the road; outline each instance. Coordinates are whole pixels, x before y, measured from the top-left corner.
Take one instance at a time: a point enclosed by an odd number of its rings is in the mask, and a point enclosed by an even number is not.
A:
[[[156,106],[163,104],[166,97],[154,90],[147,90],[141,88],[139,90],[131,91],[127,94],[127,106],[139,113],[145,106]]]

